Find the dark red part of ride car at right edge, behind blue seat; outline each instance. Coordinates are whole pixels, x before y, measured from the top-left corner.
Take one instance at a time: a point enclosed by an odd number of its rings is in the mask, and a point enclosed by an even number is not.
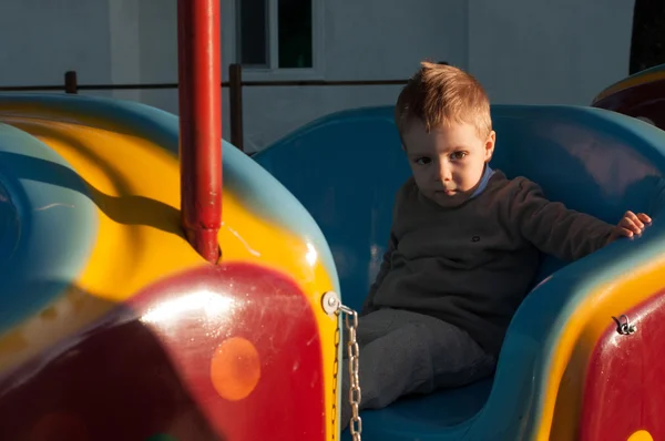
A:
[[[624,89],[593,103],[634,117],[647,117],[656,127],[665,130],[665,80],[652,81]]]

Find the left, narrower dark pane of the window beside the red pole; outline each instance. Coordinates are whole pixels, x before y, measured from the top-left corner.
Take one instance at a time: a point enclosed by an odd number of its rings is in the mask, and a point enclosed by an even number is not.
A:
[[[238,55],[244,65],[268,64],[268,0],[239,0]]]

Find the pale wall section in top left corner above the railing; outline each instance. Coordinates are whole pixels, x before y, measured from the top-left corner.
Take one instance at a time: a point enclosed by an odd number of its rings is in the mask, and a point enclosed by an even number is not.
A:
[[[109,1],[1,4],[1,85],[63,84],[64,72],[74,69],[84,79],[111,82]]]

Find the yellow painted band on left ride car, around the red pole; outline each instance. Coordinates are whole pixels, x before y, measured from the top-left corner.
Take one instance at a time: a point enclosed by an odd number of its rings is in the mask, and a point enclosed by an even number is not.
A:
[[[180,170],[172,154],[85,115],[72,120],[70,114],[21,104],[16,110],[0,106],[0,121],[32,134],[62,155],[85,181],[99,217],[96,244],[86,268],[52,307],[60,314],[30,318],[0,337],[0,370],[74,334],[160,278],[208,265],[180,230]],[[307,295],[321,332],[329,413],[337,320],[320,306],[323,294],[334,289],[328,273],[314,247],[258,218],[229,192],[224,193],[223,214],[218,237],[224,261],[248,261],[282,271]],[[326,418],[332,419],[330,414]],[[331,439],[335,430],[330,424],[327,430]]]

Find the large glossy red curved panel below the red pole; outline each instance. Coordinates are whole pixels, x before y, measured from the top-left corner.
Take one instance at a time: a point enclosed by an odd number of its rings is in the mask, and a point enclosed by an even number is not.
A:
[[[225,399],[213,358],[242,338],[260,375],[246,398]],[[248,370],[235,372],[241,383],[254,378]],[[323,441],[321,372],[316,318],[290,279],[250,265],[205,267],[150,287],[1,378],[0,438]]]

